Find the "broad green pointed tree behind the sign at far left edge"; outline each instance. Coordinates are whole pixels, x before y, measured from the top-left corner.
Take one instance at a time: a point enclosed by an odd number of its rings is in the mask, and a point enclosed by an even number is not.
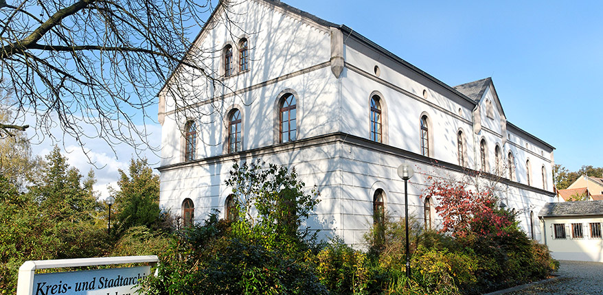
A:
[[[95,226],[93,188],[82,187],[58,147],[46,159],[25,192],[0,174],[0,290],[8,293],[26,260],[94,257],[109,248],[104,227]]]

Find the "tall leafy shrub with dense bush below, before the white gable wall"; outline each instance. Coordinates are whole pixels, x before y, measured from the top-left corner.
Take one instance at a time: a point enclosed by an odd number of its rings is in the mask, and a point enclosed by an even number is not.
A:
[[[326,294],[312,266],[307,232],[298,232],[317,204],[295,170],[235,163],[227,180],[238,220],[183,228],[160,256],[150,294]],[[257,210],[254,213],[252,207]]]

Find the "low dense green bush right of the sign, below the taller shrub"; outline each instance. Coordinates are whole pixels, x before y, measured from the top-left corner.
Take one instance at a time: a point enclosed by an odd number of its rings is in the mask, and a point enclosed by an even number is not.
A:
[[[240,239],[236,223],[213,214],[202,226],[183,229],[159,255],[159,275],[146,282],[149,294],[327,294],[312,263]]]

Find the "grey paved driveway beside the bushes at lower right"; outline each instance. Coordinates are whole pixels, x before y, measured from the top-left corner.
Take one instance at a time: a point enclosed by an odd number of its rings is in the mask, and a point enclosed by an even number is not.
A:
[[[559,261],[560,279],[508,294],[603,294],[603,263]]]

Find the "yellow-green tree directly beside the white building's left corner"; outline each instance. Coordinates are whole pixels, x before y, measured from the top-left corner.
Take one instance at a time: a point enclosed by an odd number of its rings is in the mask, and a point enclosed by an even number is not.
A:
[[[119,172],[119,190],[110,189],[117,210],[116,231],[123,233],[133,226],[164,227],[162,221],[166,217],[159,208],[159,176],[153,174],[147,160],[132,159],[128,174],[122,169]]]

